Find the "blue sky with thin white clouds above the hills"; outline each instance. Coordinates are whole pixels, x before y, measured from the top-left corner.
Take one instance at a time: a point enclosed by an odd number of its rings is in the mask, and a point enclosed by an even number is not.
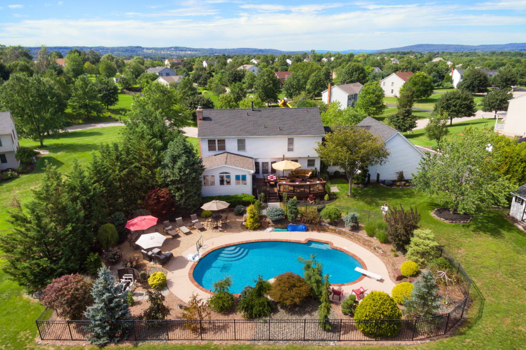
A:
[[[525,41],[526,0],[0,0],[4,45],[336,52]]]

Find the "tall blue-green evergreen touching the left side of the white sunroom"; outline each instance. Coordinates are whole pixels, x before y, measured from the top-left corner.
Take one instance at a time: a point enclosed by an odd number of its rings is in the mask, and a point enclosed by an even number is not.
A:
[[[201,204],[203,160],[179,134],[165,152],[161,177],[174,199],[177,212],[191,212]]]

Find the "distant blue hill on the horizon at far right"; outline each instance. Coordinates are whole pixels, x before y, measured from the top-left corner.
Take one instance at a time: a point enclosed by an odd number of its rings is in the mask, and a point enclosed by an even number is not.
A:
[[[392,47],[378,52],[414,51],[414,52],[465,52],[465,51],[526,51],[526,43],[490,44],[490,45],[454,45],[454,44],[417,44]]]

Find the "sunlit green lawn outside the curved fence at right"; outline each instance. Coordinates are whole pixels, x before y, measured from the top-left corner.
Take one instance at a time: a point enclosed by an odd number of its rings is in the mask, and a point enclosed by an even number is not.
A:
[[[443,207],[414,189],[389,189],[371,185],[353,188],[348,198],[346,180],[333,180],[340,190],[335,202],[380,213],[380,206],[400,204],[416,207],[420,227],[428,228],[438,242],[461,262],[473,280],[473,304],[468,321],[453,337],[420,345],[419,348],[524,348],[526,346],[526,304],[523,266],[526,264],[526,234],[504,218],[506,210],[477,213],[467,224],[449,224],[431,217],[434,208]]]

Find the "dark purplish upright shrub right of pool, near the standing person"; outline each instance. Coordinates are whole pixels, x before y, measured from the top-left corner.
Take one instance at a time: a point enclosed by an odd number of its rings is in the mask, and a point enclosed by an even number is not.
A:
[[[403,250],[409,244],[413,231],[418,229],[418,222],[420,215],[415,208],[403,210],[402,205],[400,209],[394,208],[389,210],[387,215],[387,236],[393,242],[396,249]]]

